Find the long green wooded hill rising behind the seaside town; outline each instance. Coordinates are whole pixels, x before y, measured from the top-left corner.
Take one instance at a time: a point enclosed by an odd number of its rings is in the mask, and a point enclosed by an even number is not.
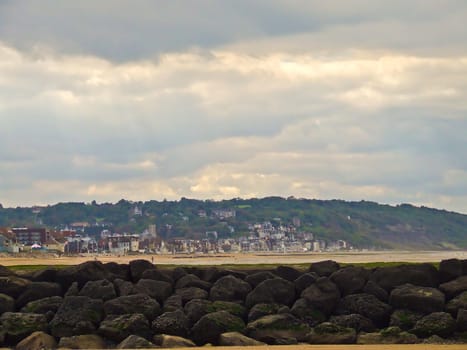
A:
[[[223,212],[224,210],[225,212]],[[230,213],[230,214],[229,214]],[[85,231],[142,232],[151,224],[165,238],[248,235],[251,225],[294,227],[315,238],[342,239],[358,248],[464,249],[467,215],[410,204],[267,197],[223,201],[58,203],[46,207],[2,208],[0,226],[46,226],[60,229],[87,223]]]

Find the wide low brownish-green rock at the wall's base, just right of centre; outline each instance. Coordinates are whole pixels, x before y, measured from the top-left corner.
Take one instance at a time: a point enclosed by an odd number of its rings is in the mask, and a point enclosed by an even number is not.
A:
[[[267,344],[277,344],[276,339],[304,341],[311,328],[291,314],[261,317],[247,325],[249,337]]]

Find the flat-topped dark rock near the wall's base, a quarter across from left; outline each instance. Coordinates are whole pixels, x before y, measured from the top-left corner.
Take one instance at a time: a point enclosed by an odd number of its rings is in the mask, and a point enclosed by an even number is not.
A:
[[[146,339],[152,335],[143,314],[109,315],[101,322],[98,333],[115,342],[121,342],[132,334]]]

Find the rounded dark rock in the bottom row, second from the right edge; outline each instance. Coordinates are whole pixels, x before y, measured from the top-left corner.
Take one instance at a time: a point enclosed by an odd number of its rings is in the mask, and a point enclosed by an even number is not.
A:
[[[456,330],[456,321],[446,312],[434,312],[417,321],[410,333],[420,338],[438,335],[447,338]]]

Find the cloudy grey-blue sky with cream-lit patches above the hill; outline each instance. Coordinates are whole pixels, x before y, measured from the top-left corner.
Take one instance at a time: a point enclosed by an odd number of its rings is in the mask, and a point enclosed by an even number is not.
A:
[[[0,203],[467,213],[464,0],[0,0]]]

